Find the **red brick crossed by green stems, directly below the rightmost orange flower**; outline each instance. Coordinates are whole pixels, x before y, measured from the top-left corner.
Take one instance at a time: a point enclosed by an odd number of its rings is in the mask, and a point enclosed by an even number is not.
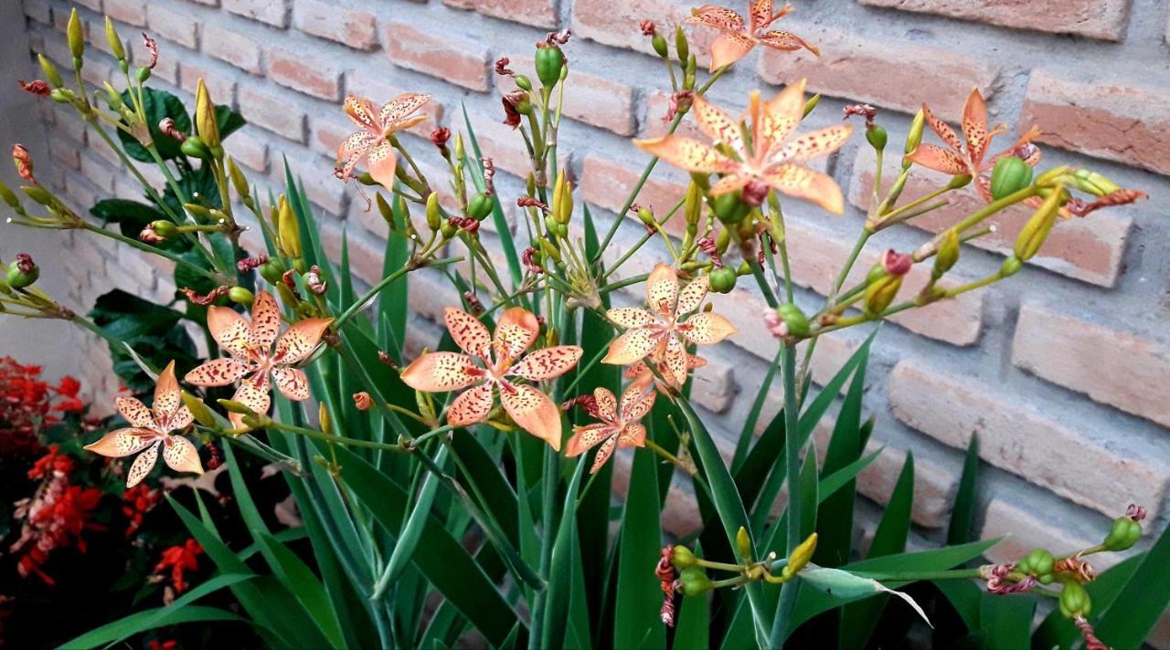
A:
[[[875,165],[873,148],[859,147],[853,161],[849,202],[862,210],[870,207]],[[887,157],[882,172],[883,192],[894,184],[900,171],[901,160]],[[924,196],[949,180],[950,177],[916,167],[902,192],[901,203]],[[945,198],[950,201],[948,206],[907,223],[930,233],[940,233],[985,205],[971,186],[951,192]],[[1126,243],[1134,224],[1134,219],[1126,213],[1126,208],[1115,208],[1094,213],[1089,219],[1060,221],[1030,263],[1099,286],[1113,286],[1121,274]],[[996,231],[970,243],[1000,255],[1010,254],[1016,237],[1031,215],[1031,208],[1014,206],[991,216],[984,223],[994,226]]]

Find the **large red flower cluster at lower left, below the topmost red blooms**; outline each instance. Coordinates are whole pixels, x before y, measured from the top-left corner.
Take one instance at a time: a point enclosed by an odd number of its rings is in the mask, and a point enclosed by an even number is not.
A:
[[[16,502],[16,518],[23,519],[25,525],[11,552],[23,553],[16,565],[22,578],[35,573],[44,582],[54,585],[53,579],[41,569],[49,554],[69,546],[76,546],[84,553],[82,532],[102,530],[102,526],[90,521],[94,509],[102,500],[102,491],[70,485],[73,470],[73,459],[62,455],[55,444],[28,470],[29,478],[41,479],[42,483],[32,498]]]

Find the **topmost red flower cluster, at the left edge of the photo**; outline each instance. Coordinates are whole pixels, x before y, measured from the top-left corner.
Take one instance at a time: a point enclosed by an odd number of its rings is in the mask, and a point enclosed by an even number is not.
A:
[[[0,358],[0,454],[39,451],[37,431],[60,421],[54,412],[84,410],[85,403],[77,397],[80,381],[64,376],[54,387],[40,376],[40,366]]]

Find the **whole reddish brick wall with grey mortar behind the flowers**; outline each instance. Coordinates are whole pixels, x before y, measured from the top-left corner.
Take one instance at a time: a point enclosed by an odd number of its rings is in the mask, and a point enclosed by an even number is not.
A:
[[[625,189],[646,157],[628,138],[662,131],[669,82],[648,56],[638,22],[670,25],[697,0],[78,0],[94,46],[103,48],[99,13],[115,16],[124,35],[149,30],[163,50],[157,85],[190,97],[204,77],[219,103],[234,104],[250,125],[229,150],[254,178],[278,186],[284,157],[304,178],[323,214],[329,249],[350,238],[355,270],[376,281],[385,226],[365,202],[332,178],[331,155],[349,130],[338,108],[349,92],[385,101],[404,90],[434,95],[431,113],[462,126],[466,105],[481,145],[503,171],[505,195],[519,187],[526,164],[516,133],[500,124],[500,84],[491,61],[510,56],[530,68],[531,46],[545,30],[571,27],[571,120],[562,130],[562,157],[580,177],[579,200],[614,219]],[[742,5],[743,2],[736,2]],[[34,49],[64,64],[63,0],[23,0]],[[874,444],[883,459],[860,482],[862,493],[888,498],[901,459],[918,468],[916,532],[937,539],[945,525],[962,450],[982,438],[986,535],[1013,533],[1010,551],[1037,544],[1100,539],[1110,517],[1130,502],[1145,504],[1156,530],[1165,525],[1170,478],[1170,223],[1159,200],[1170,193],[1170,51],[1166,8],[1156,0],[821,0],[798,2],[784,28],[818,43],[821,57],[753,53],[713,91],[717,103],[742,108],[755,88],[808,77],[825,99],[815,125],[839,120],[846,99],[881,109],[892,141],[904,137],[922,101],[954,122],[972,87],[989,98],[993,122],[1035,124],[1049,164],[1090,165],[1152,200],[1059,224],[1045,249],[1011,282],[991,291],[901,314],[883,327],[873,354],[867,409],[878,415]],[[693,42],[701,53],[709,34]],[[706,57],[706,53],[702,53]],[[29,69],[16,62],[14,68]],[[115,71],[92,56],[90,83]],[[32,74],[32,72],[29,72]],[[508,88],[510,89],[510,88]],[[97,138],[62,116],[49,123],[55,181],[81,205],[106,194],[137,195]],[[54,122],[54,119],[56,119]],[[424,131],[425,132],[425,131]],[[421,137],[424,171],[440,178],[438,159]],[[571,158],[570,158],[571,154]],[[815,306],[832,271],[848,255],[861,224],[874,158],[861,138],[828,162],[851,207],[831,219],[791,202],[790,250],[798,302]],[[684,177],[660,166],[640,202],[665,208]],[[890,178],[887,174],[886,178]],[[911,184],[906,196],[925,192]],[[515,195],[511,192],[510,195]],[[959,199],[916,227],[883,233],[859,264],[862,274],[887,247],[911,249],[952,222],[977,199]],[[959,277],[989,272],[1010,249],[1024,215],[1000,219],[996,236],[968,247]],[[639,235],[621,230],[621,250]],[[483,235],[494,241],[491,233]],[[165,274],[125,249],[77,237],[84,271],[71,270],[87,304],[109,284],[168,296]],[[619,275],[644,272],[649,253]],[[413,277],[413,276],[412,276]],[[910,284],[923,279],[911,276]],[[741,282],[716,305],[741,329],[701,374],[696,401],[715,428],[739,428],[755,387],[776,351],[760,321],[763,300]],[[443,304],[455,299],[434,275],[413,291],[419,339],[432,340]],[[636,293],[620,300],[633,302]],[[860,343],[863,332],[826,337],[814,378],[824,381]],[[95,367],[102,369],[101,364]],[[772,399],[775,413],[779,397]],[[686,491],[680,491],[684,495]],[[872,517],[873,509],[862,510]],[[686,517],[673,520],[686,525]]]

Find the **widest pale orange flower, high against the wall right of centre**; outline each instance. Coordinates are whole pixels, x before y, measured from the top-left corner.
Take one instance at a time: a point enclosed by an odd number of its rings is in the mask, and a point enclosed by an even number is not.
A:
[[[744,119],[751,122],[750,147],[738,120],[696,96],[694,112],[698,127],[716,145],[723,145],[730,151],[731,155],[714,146],[674,134],[634,140],[634,144],[688,172],[725,174],[711,186],[713,195],[735,192],[749,185],[756,189],[772,187],[841,214],[845,212],[841,188],[830,175],[810,170],[800,162],[828,155],[840,148],[849,138],[852,127],[838,124],[790,140],[789,137],[804,117],[804,89],[805,82],[800,79],[770,102],[760,102],[758,92],[751,94],[751,105],[744,115]],[[762,196],[764,193],[752,194]]]

